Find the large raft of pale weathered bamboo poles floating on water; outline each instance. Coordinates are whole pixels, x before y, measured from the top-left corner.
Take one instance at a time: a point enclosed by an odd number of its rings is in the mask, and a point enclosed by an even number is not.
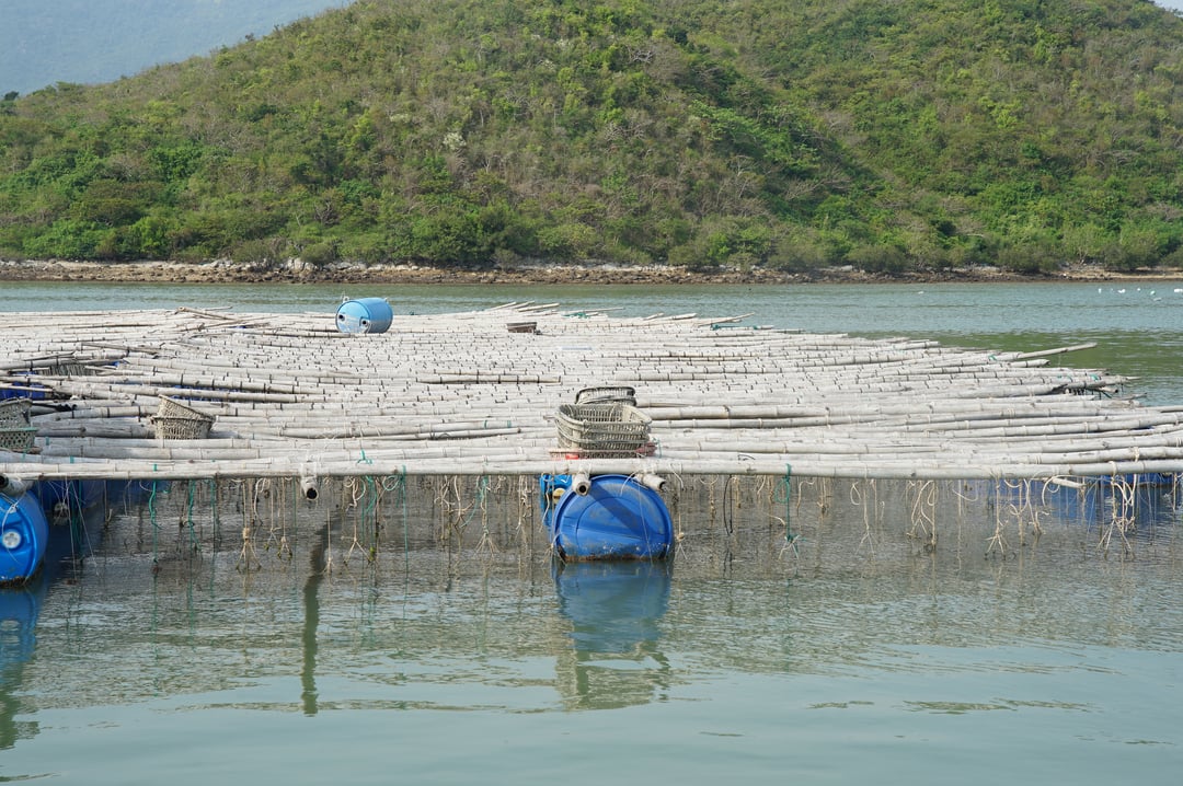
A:
[[[31,452],[0,449],[0,481],[1183,473],[1183,407],[1051,364],[1082,347],[1003,353],[609,311],[506,304],[396,316],[379,334],[342,333],[332,313],[0,314],[0,388],[34,396],[37,428]],[[560,407],[597,385],[636,391],[648,455],[558,448]],[[160,436],[162,401],[211,418],[208,434]]]

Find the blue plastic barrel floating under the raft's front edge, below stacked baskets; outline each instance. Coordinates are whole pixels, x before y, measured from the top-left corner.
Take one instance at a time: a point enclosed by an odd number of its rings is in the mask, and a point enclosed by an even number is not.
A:
[[[665,559],[673,522],[661,495],[628,475],[542,475],[543,522],[563,561]]]

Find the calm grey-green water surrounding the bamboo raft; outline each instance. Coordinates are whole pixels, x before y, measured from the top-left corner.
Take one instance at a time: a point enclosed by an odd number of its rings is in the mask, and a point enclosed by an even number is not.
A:
[[[1060,362],[1139,377],[1127,392],[1165,405],[1183,403],[1176,286],[6,284],[4,300],[31,319],[532,300],[998,350],[1098,342]],[[115,500],[80,569],[0,598],[0,779],[1177,782],[1178,489],[679,481],[679,551],[659,570],[558,569],[515,483]]]

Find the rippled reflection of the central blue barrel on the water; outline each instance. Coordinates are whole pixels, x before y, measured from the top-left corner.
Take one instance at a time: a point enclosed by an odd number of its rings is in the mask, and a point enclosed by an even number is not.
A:
[[[610,709],[664,699],[670,662],[661,618],[670,605],[670,561],[552,566],[558,610],[570,622],[570,651],[557,658],[568,709]]]

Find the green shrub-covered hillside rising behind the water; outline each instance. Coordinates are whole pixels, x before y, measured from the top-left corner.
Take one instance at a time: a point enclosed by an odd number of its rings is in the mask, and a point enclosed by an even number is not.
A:
[[[0,104],[0,255],[1183,262],[1148,0],[364,0]]]

